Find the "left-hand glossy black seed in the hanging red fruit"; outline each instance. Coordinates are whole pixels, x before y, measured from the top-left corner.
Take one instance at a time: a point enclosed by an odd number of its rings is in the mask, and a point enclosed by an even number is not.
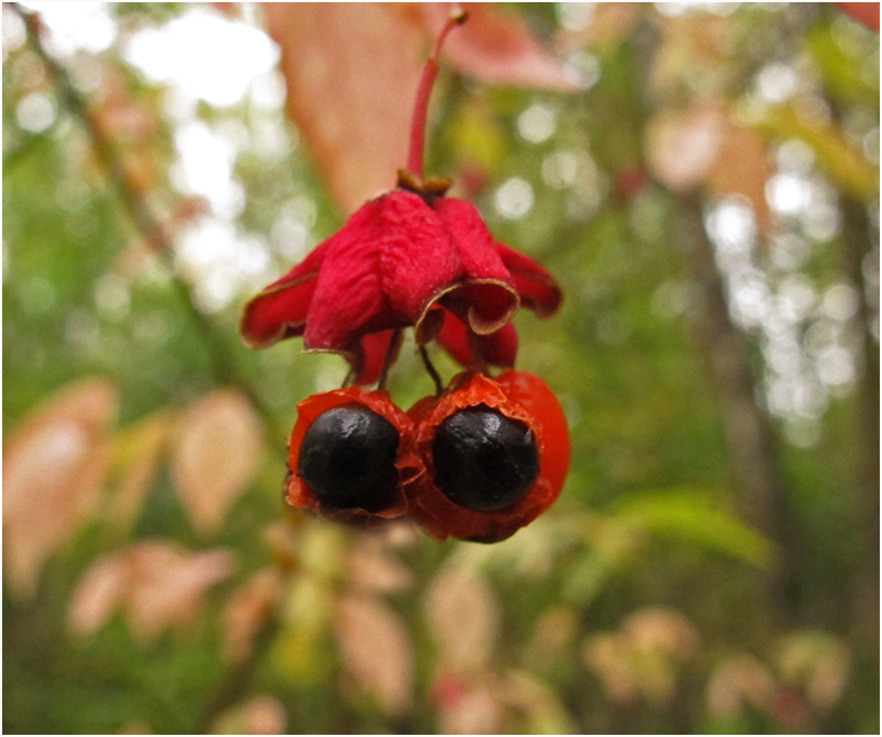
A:
[[[297,473],[325,504],[380,512],[395,495],[398,440],[395,426],[367,407],[332,407],[303,436]]]

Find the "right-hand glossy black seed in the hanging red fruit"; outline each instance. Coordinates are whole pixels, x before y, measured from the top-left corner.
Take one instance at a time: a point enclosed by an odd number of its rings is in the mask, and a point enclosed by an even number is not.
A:
[[[539,473],[530,429],[485,405],[460,409],[438,426],[432,459],[438,488],[477,512],[510,506]]]

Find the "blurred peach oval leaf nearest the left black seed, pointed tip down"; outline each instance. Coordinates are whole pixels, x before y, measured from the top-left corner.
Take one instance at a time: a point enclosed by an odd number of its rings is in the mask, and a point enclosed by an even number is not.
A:
[[[200,532],[214,532],[257,470],[263,431],[248,400],[218,389],[181,418],[172,476]]]

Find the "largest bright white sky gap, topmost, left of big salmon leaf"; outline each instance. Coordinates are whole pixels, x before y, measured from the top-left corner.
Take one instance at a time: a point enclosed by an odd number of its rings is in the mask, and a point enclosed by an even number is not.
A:
[[[152,82],[173,83],[185,96],[216,107],[238,103],[279,61],[266,33],[204,8],[139,31],[123,55]]]

